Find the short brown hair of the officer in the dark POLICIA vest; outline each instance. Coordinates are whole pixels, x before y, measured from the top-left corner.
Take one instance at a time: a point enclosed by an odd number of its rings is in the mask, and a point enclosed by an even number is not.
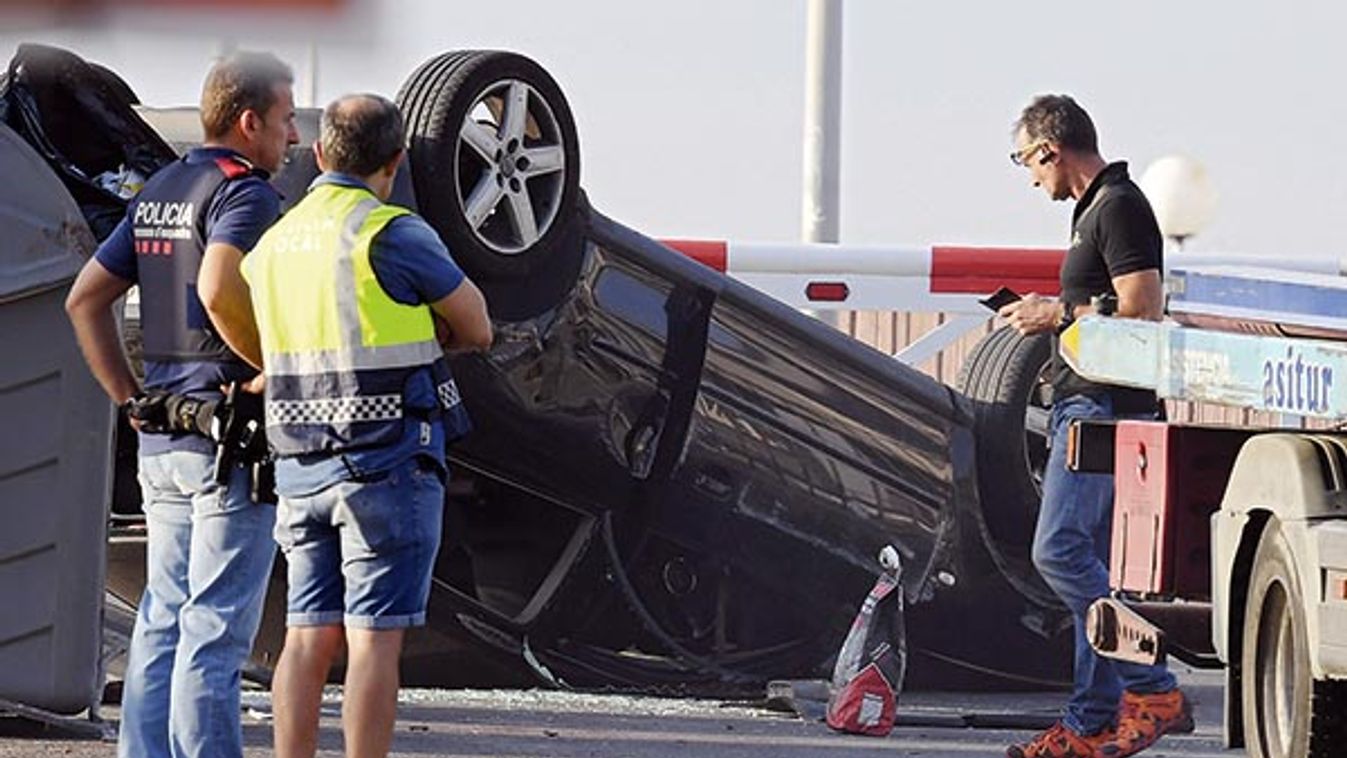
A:
[[[207,140],[229,133],[245,110],[265,116],[276,104],[276,85],[294,85],[290,66],[271,53],[238,51],[206,74],[201,89],[201,127]]]

